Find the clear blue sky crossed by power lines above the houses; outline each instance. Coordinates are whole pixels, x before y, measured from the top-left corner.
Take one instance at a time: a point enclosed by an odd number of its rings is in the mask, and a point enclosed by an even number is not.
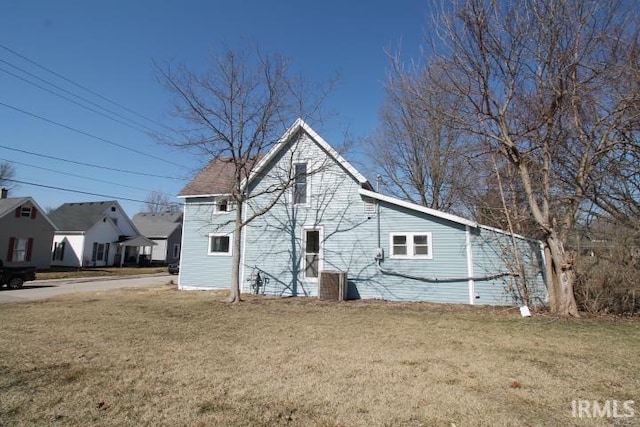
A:
[[[142,126],[171,123],[170,94],[154,80],[152,63],[175,61],[202,70],[223,44],[257,42],[289,58],[311,81],[327,81],[338,72],[326,104],[338,116],[321,128],[309,124],[329,143],[340,144],[346,128],[356,139],[366,137],[384,97],[385,48],[401,43],[405,54],[417,52],[428,3],[4,0],[0,159],[13,163],[15,179],[38,184],[18,184],[10,196],[32,196],[43,208],[117,199],[133,216],[151,191],[178,193],[206,159],[145,134]],[[133,128],[125,126],[24,80],[137,124],[115,116]],[[355,157],[360,167],[364,159]],[[133,171],[146,175],[128,173]]]

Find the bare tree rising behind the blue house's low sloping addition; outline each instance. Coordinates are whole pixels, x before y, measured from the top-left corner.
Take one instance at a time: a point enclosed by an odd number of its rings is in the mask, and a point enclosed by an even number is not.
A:
[[[433,209],[460,212],[471,182],[472,153],[448,111],[461,97],[435,92],[437,68],[404,66],[390,55],[381,125],[371,139],[373,167],[392,194]]]

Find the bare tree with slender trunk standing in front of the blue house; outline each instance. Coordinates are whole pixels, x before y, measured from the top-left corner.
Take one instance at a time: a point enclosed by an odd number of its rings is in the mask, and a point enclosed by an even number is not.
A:
[[[243,228],[268,212],[295,182],[291,169],[282,172],[276,185],[248,192],[245,179],[295,117],[316,113],[326,92],[318,88],[313,100],[308,86],[293,78],[288,62],[259,49],[226,49],[212,55],[210,68],[198,74],[185,66],[156,67],[159,80],[175,95],[175,115],[189,128],[171,143],[192,149],[210,159],[232,165],[233,268],[229,301],[240,301],[240,254]],[[318,95],[319,94],[319,95]],[[308,172],[313,173],[313,172]],[[268,203],[245,212],[250,198],[266,196]]]

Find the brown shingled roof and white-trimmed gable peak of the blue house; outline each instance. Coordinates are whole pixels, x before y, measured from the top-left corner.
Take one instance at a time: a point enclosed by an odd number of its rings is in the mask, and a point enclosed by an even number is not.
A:
[[[355,178],[362,186],[371,188],[369,181],[354,168],[347,160],[340,155],[333,147],[327,143],[320,135],[318,135],[304,120],[297,119],[293,125],[286,130],[286,132],[280,137],[278,142],[271,148],[271,150],[256,164],[251,170],[251,174],[248,178],[242,182],[242,187],[245,187],[247,183],[251,182],[269,162],[287,146],[287,143],[291,138],[299,131],[306,132],[311,139],[318,144],[324,151],[326,151],[331,157],[333,157],[338,164],[340,164],[353,178]],[[235,173],[235,166],[233,162],[228,159],[214,159],[207,164],[181,191],[178,193],[178,197],[206,197],[206,196],[219,196],[231,194],[233,189],[233,179]]]

